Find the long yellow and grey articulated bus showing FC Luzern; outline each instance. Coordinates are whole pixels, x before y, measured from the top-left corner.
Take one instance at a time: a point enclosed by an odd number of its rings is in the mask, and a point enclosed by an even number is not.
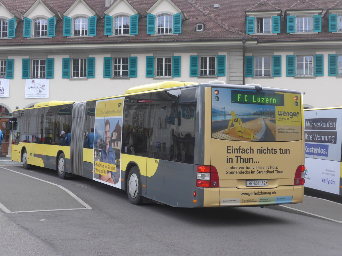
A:
[[[300,203],[302,109],[299,91],[256,84],[135,86],[115,97],[15,110],[11,159],[126,190],[133,204]]]

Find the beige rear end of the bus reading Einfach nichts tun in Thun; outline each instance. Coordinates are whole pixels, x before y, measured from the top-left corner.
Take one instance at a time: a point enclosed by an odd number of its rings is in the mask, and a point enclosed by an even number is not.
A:
[[[210,163],[197,167],[196,180],[204,190],[203,207],[301,203],[301,93],[213,85],[205,97],[205,162]]]

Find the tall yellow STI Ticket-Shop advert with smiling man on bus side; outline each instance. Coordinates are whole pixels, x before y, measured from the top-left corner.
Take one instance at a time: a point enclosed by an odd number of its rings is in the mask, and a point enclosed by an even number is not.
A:
[[[121,188],[121,132],[124,98],[99,100],[95,109],[93,179]]]

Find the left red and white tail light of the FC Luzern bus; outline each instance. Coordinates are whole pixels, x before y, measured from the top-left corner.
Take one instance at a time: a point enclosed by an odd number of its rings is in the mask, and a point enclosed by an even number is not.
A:
[[[197,187],[220,187],[219,174],[214,166],[197,166]]]

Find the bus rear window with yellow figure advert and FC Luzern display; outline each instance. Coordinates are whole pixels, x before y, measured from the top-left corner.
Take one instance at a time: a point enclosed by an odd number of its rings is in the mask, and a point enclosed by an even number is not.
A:
[[[301,140],[301,109],[299,93],[212,88],[212,138]]]

